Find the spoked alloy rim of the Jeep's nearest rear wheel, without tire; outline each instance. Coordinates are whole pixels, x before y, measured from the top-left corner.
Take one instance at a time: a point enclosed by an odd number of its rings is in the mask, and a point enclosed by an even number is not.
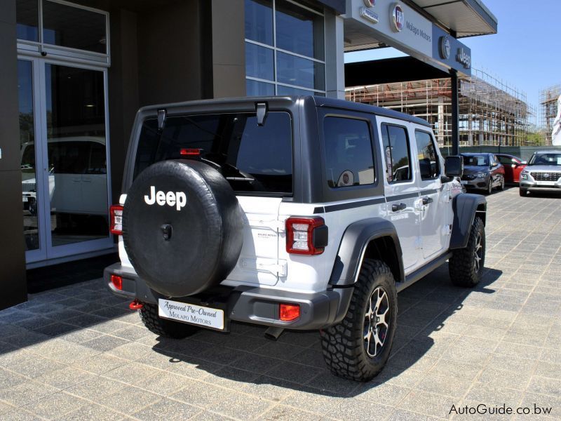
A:
[[[379,286],[370,295],[364,318],[364,347],[371,358],[377,356],[384,347],[390,316],[388,294]]]

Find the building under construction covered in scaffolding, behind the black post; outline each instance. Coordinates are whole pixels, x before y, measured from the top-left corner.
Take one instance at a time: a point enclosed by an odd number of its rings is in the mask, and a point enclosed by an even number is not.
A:
[[[440,147],[452,145],[450,78],[354,86],[345,89],[345,96],[419,116],[431,123]],[[535,114],[525,93],[485,72],[473,69],[471,77],[459,80],[460,146],[529,145]]]

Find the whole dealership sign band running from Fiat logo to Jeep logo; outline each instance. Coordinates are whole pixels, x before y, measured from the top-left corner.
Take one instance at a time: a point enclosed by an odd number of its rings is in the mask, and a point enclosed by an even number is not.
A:
[[[471,50],[407,4],[395,0],[351,0],[346,19],[372,39],[439,67],[471,76]]]

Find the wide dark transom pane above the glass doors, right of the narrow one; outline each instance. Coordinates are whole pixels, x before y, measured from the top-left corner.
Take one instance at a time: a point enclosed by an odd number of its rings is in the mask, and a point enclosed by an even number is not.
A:
[[[107,53],[105,15],[43,1],[43,42],[55,46]]]

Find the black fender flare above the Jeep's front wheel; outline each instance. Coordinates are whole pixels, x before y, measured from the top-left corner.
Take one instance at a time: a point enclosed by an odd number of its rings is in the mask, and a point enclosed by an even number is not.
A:
[[[481,194],[461,193],[452,200],[454,222],[452,222],[452,236],[450,250],[465,248],[468,245],[469,232],[478,208],[482,206],[487,211],[487,199]],[[483,218],[485,224],[485,218]]]

